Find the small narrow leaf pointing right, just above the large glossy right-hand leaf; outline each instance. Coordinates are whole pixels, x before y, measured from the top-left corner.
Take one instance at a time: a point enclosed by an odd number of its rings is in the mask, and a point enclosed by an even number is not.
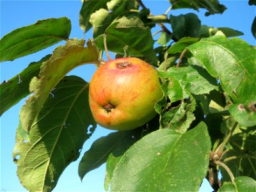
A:
[[[231,28],[213,28],[213,27],[208,27],[208,26],[203,25],[203,26],[201,26],[201,29],[200,29],[200,37],[213,36],[218,31],[221,31],[227,37],[244,35],[243,32],[237,31],[237,30],[231,29]]]

